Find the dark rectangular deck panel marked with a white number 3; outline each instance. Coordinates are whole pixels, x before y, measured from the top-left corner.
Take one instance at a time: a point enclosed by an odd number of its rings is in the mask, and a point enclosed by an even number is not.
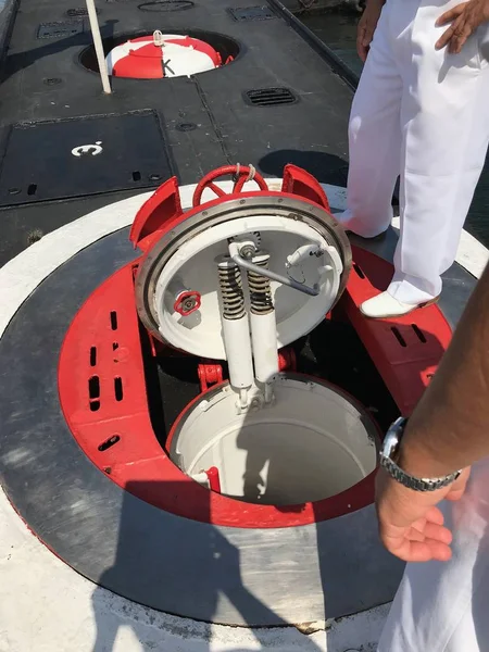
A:
[[[154,187],[171,176],[152,111],[21,123],[0,171],[0,206]]]

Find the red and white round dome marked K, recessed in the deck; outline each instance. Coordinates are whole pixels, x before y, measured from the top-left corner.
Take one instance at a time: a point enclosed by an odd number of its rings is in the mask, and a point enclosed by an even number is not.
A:
[[[220,53],[205,41],[161,32],[116,46],[105,61],[110,75],[136,79],[190,76],[222,64]]]

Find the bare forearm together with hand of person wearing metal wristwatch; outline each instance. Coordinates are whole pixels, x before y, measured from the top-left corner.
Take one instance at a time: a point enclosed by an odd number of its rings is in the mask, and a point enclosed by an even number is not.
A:
[[[405,561],[450,559],[451,534],[435,506],[462,497],[474,462],[489,456],[489,267],[484,273],[430,387],[409,421],[399,465],[435,478],[465,468],[450,487],[406,489],[383,471],[377,512],[386,548]]]

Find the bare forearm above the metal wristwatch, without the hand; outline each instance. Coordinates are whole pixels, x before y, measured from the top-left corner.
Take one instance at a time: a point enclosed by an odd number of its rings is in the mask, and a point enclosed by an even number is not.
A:
[[[489,267],[412,415],[401,464],[438,477],[489,455]],[[415,473],[414,473],[415,472]]]

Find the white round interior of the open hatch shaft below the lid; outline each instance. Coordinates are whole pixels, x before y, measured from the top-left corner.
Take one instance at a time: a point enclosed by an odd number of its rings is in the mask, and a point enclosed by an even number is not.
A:
[[[210,391],[179,423],[171,457],[189,476],[215,466],[222,493],[267,505],[330,498],[375,469],[376,428],[344,396],[287,376],[273,391],[246,413],[229,385]]]

